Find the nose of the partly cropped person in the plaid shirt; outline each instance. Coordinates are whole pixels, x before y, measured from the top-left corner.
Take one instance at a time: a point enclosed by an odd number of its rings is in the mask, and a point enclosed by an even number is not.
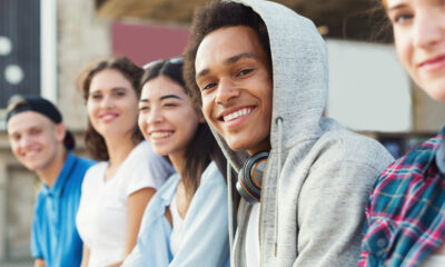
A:
[[[431,48],[445,38],[443,18],[435,18],[433,12],[418,12],[414,21],[414,46]]]

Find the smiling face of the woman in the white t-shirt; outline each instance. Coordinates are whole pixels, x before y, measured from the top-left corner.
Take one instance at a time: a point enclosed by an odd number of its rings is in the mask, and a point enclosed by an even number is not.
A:
[[[106,139],[131,136],[137,127],[138,98],[118,70],[105,69],[92,78],[87,110],[92,127]]]

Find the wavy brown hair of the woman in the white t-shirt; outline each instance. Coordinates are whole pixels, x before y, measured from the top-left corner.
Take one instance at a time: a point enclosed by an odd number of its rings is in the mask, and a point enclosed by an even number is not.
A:
[[[137,98],[140,97],[139,80],[144,73],[144,70],[135,65],[131,60],[126,57],[111,58],[107,60],[100,60],[95,62],[87,68],[79,77],[79,87],[82,91],[85,101],[88,101],[91,80],[97,73],[106,69],[113,69],[122,73],[122,76],[131,83],[135,89]],[[135,129],[131,136],[135,144],[139,144],[144,140],[144,136],[140,132],[138,125],[135,125]],[[92,158],[96,160],[109,160],[107,145],[103,137],[92,127],[90,119],[88,119],[88,128],[85,134],[85,144]]]

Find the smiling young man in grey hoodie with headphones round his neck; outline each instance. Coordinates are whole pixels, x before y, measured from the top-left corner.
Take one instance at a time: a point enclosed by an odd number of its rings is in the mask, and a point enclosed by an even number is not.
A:
[[[239,204],[231,265],[355,266],[368,191],[393,159],[323,118],[327,56],[313,22],[264,0],[202,8],[185,78],[237,171],[268,152],[260,201]]]

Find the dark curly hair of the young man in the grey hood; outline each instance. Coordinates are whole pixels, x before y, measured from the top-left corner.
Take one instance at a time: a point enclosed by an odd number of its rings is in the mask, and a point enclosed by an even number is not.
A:
[[[195,80],[195,59],[198,47],[210,32],[233,26],[247,26],[257,33],[259,43],[267,55],[268,70],[271,77],[269,34],[263,19],[251,8],[241,3],[215,1],[196,10],[184,55],[184,78],[187,87],[190,88],[191,98],[197,107],[202,106],[200,90]]]

